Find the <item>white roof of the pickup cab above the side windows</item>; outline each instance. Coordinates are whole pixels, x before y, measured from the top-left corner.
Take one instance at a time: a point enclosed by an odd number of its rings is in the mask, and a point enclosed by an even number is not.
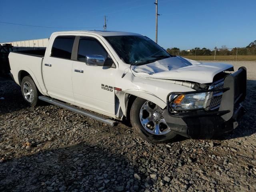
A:
[[[122,32],[122,31],[87,31],[87,30],[78,30],[78,31],[60,31],[60,32],[54,32],[54,33],[84,33],[84,34],[99,34],[101,36],[121,36],[121,35],[136,35],[141,36],[141,34],[138,33],[132,33],[132,32]]]

